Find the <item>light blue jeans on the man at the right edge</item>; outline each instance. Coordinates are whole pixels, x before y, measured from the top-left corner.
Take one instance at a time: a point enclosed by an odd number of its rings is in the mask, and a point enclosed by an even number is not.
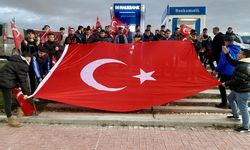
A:
[[[242,127],[249,128],[249,112],[248,112],[248,100],[250,98],[250,92],[239,93],[231,91],[227,99],[232,108],[234,117],[239,117],[238,107],[242,115]],[[238,105],[238,106],[237,106]]]

